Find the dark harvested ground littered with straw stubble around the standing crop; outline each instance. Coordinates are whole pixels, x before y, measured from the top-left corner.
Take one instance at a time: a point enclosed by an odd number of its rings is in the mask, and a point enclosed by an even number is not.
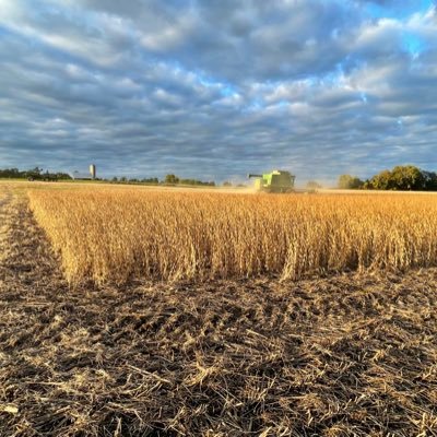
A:
[[[0,436],[435,436],[437,270],[69,290],[0,190]]]

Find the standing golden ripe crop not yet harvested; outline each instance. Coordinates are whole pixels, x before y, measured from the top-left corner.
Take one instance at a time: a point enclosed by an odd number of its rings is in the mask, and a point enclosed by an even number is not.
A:
[[[437,265],[434,196],[32,191],[70,283]]]

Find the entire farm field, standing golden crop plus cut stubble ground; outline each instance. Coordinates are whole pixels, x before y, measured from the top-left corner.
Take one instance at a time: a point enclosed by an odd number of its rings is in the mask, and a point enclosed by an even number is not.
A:
[[[0,182],[0,436],[436,436],[437,197]]]

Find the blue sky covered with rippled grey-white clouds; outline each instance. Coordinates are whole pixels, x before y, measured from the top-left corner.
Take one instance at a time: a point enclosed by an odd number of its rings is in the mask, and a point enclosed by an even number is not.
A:
[[[0,0],[0,168],[437,170],[432,0]]]

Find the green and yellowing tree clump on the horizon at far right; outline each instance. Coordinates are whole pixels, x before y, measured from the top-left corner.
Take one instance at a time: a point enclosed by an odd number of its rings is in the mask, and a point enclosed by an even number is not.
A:
[[[437,191],[437,174],[423,170],[414,165],[399,165],[391,170],[382,170],[367,180],[361,180],[356,176],[341,175],[339,177],[338,188]]]

